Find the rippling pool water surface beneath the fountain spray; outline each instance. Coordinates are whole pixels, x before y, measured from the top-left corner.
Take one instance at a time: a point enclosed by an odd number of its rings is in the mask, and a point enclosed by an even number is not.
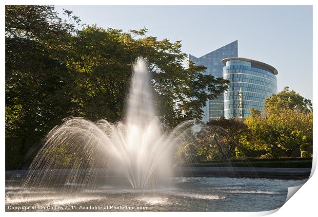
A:
[[[284,205],[288,187],[306,180],[178,177],[157,189],[132,189],[115,180],[68,195],[58,191],[61,186],[22,191],[17,183],[6,183],[6,211],[26,206],[31,209],[22,211],[268,211]]]

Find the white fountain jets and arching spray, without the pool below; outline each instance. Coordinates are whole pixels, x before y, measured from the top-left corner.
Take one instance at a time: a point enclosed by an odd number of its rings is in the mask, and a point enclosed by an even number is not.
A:
[[[169,182],[174,152],[196,143],[197,121],[164,132],[156,117],[148,68],[143,58],[133,66],[126,118],[93,123],[67,118],[52,129],[33,160],[24,187],[48,188],[63,180],[63,192],[96,188],[101,177],[124,175],[132,188]],[[190,157],[189,159],[191,160]]]

